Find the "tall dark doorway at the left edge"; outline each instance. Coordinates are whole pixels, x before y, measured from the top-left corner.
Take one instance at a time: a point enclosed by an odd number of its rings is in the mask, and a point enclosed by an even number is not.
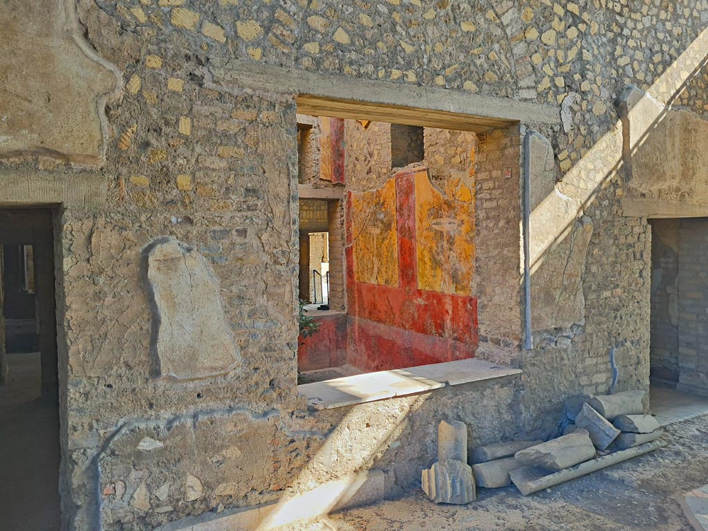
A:
[[[59,399],[53,212],[0,210],[0,514],[58,530]]]

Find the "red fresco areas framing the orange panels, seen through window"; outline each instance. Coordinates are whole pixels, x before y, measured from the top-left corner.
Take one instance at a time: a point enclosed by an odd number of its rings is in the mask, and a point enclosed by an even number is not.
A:
[[[347,196],[347,362],[362,370],[415,367],[473,358],[478,343],[477,300],[418,289],[415,176],[396,174],[397,286],[356,280],[352,194]]]

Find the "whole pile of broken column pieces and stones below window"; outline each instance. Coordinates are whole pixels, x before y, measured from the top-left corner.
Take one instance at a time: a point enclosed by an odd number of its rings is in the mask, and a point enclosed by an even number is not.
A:
[[[467,465],[467,426],[442,421],[438,462],[423,470],[423,491],[435,503],[469,503],[475,486],[515,484],[527,496],[637,455],[656,450],[663,434],[643,413],[646,392],[571,396],[564,402],[563,435],[548,441],[515,440],[478,447]],[[464,465],[464,466],[462,466]],[[469,474],[469,476],[468,476]]]

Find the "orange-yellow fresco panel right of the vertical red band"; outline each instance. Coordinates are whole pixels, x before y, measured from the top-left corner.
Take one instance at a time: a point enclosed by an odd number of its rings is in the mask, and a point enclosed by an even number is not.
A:
[[[416,173],[416,261],[418,289],[472,295],[474,188],[450,178],[442,193]]]

